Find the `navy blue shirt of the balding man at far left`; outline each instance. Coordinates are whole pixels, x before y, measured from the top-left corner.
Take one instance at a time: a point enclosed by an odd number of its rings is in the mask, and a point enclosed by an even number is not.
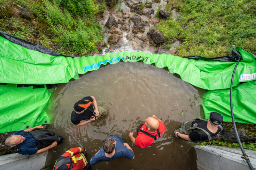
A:
[[[26,133],[28,132],[24,130],[19,130],[12,133],[11,135],[21,135],[26,138],[22,143],[16,145],[16,146],[20,146],[19,147],[20,151],[18,153],[22,155],[33,155],[38,151],[38,148],[36,147],[37,141],[30,133],[28,133],[27,135],[24,135]]]

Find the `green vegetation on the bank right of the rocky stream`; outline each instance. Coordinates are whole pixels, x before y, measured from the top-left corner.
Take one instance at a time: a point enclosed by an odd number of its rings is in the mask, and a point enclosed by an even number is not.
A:
[[[232,45],[256,53],[256,1],[168,0],[167,7],[177,8],[180,17],[156,28],[166,44],[181,42],[179,56],[231,55]]]

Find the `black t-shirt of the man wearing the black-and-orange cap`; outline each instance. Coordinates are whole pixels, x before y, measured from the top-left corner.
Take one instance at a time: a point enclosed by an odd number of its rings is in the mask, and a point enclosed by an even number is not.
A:
[[[84,97],[81,100],[90,100],[91,102],[93,101],[91,96]],[[92,104],[83,113],[79,113],[78,114],[75,111],[72,111],[71,118],[70,118],[71,122],[74,125],[78,125],[81,120],[90,119],[89,117],[94,116],[93,111],[94,111],[94,109],[93,109],[93,105]]]

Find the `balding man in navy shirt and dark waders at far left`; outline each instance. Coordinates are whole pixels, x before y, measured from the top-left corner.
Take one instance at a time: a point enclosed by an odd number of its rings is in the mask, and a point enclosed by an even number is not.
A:
[[[36,130],[33,131],[33,133],[31,132],[32,130],[37,128],[42,129],[44,128],[44,126],[40,125],[30,129],[19,130],[12,133],[8,138],[6,138],[5,145],[13,147],[15,152],[22,155],[33,155],[45,152],[48,149],[55,147],[58,143],[60,144],[62,142],[63,138],[61,136],[56,136],[50,130]],[[46,133],[42,134],[42,132]],[[50,142],[48,146],[46,146],[47,144],[44,145],[45,143],[40,143],[40,135],[44,138],[45,141],[47,141],[48,137],[48,143]],[[35,137],[39,139],[38,142]]]

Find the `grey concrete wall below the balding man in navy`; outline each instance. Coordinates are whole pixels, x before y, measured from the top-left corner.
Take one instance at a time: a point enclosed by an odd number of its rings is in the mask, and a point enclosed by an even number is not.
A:
[[[38,155],[12,153],[0,156],[0,170],[40,170],[45,168],[47,152]]]

